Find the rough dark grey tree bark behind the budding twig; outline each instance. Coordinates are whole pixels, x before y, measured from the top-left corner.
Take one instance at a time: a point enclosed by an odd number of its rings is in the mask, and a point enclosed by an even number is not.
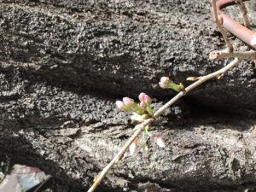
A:
[[[175,94],[157,86],[162,75],[185,82],[224,66],[208,59],[224,41],[207,0],[0,0],[0,26],[0,160],[40,167],[58,191],[86,191],[131,136],[116,99],[145,91],[159,108]],[[151,127],[167,147],[126,155],[98,191],[253,189],[255,115],[245,61],[170,108]]]

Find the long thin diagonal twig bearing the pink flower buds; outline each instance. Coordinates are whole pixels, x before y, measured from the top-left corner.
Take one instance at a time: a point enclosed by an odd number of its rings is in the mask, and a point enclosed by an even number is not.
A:
[[[210,74],[208,74],[206,76],[201,77],[201,79],[196,81],[194,84],[190,84],[187,88],[185,88],[184,90],[180,91],[176,96],[174,96],[169,102],[166,102],[166,104],[164,106],[159,108],[154,113],[154,118],[153,119],[146,119],[146,120],[144,120],[143,123],[141,123],[139,125],[139,127],[137,128],[137,131],[135,131],[134,134],[130,137],[128,142],[125,143],[125,146],[123,148],[121,148],[121,150],[119,151],[119,154],[117,154],[113,158],[113,160],[110,161],[108,166],[106,166],[102,170],[102,172],[99,173],[99,175],[95,179],[95,182],[93,183],[93,185],[90,187],[90,189],[87,192],[93,192],[93,191],[96,190],[97,186],[102,182],[102,179],[106,176],[108,170],[110,170],[113,167],[114,164],[116,164],[119,160],[122,159],[122,157],[124,156],[125,152],[129,148],[131,143],[143,132],[143,129],[144,129],[144,127],[146,125],[152,123],[156,118],[158,118],[162,113],[164,113],[167,108],[170,108],[170,106],[172,106],[173,103],[177,102],[177,100],[179,100],[181,97],[185,96],[186,93],[188,93],[191,90],[194,90],[196,87],[198,87],[199,85],[203,84],[204,82],[206,82],[209,79],[218,78],[218,76],[223,75],[230,68],[235,67],[238,64],[238,62],[239,62],[239,59],[235,58],[227,66],[219,69],[217,72],[210,73]]]

